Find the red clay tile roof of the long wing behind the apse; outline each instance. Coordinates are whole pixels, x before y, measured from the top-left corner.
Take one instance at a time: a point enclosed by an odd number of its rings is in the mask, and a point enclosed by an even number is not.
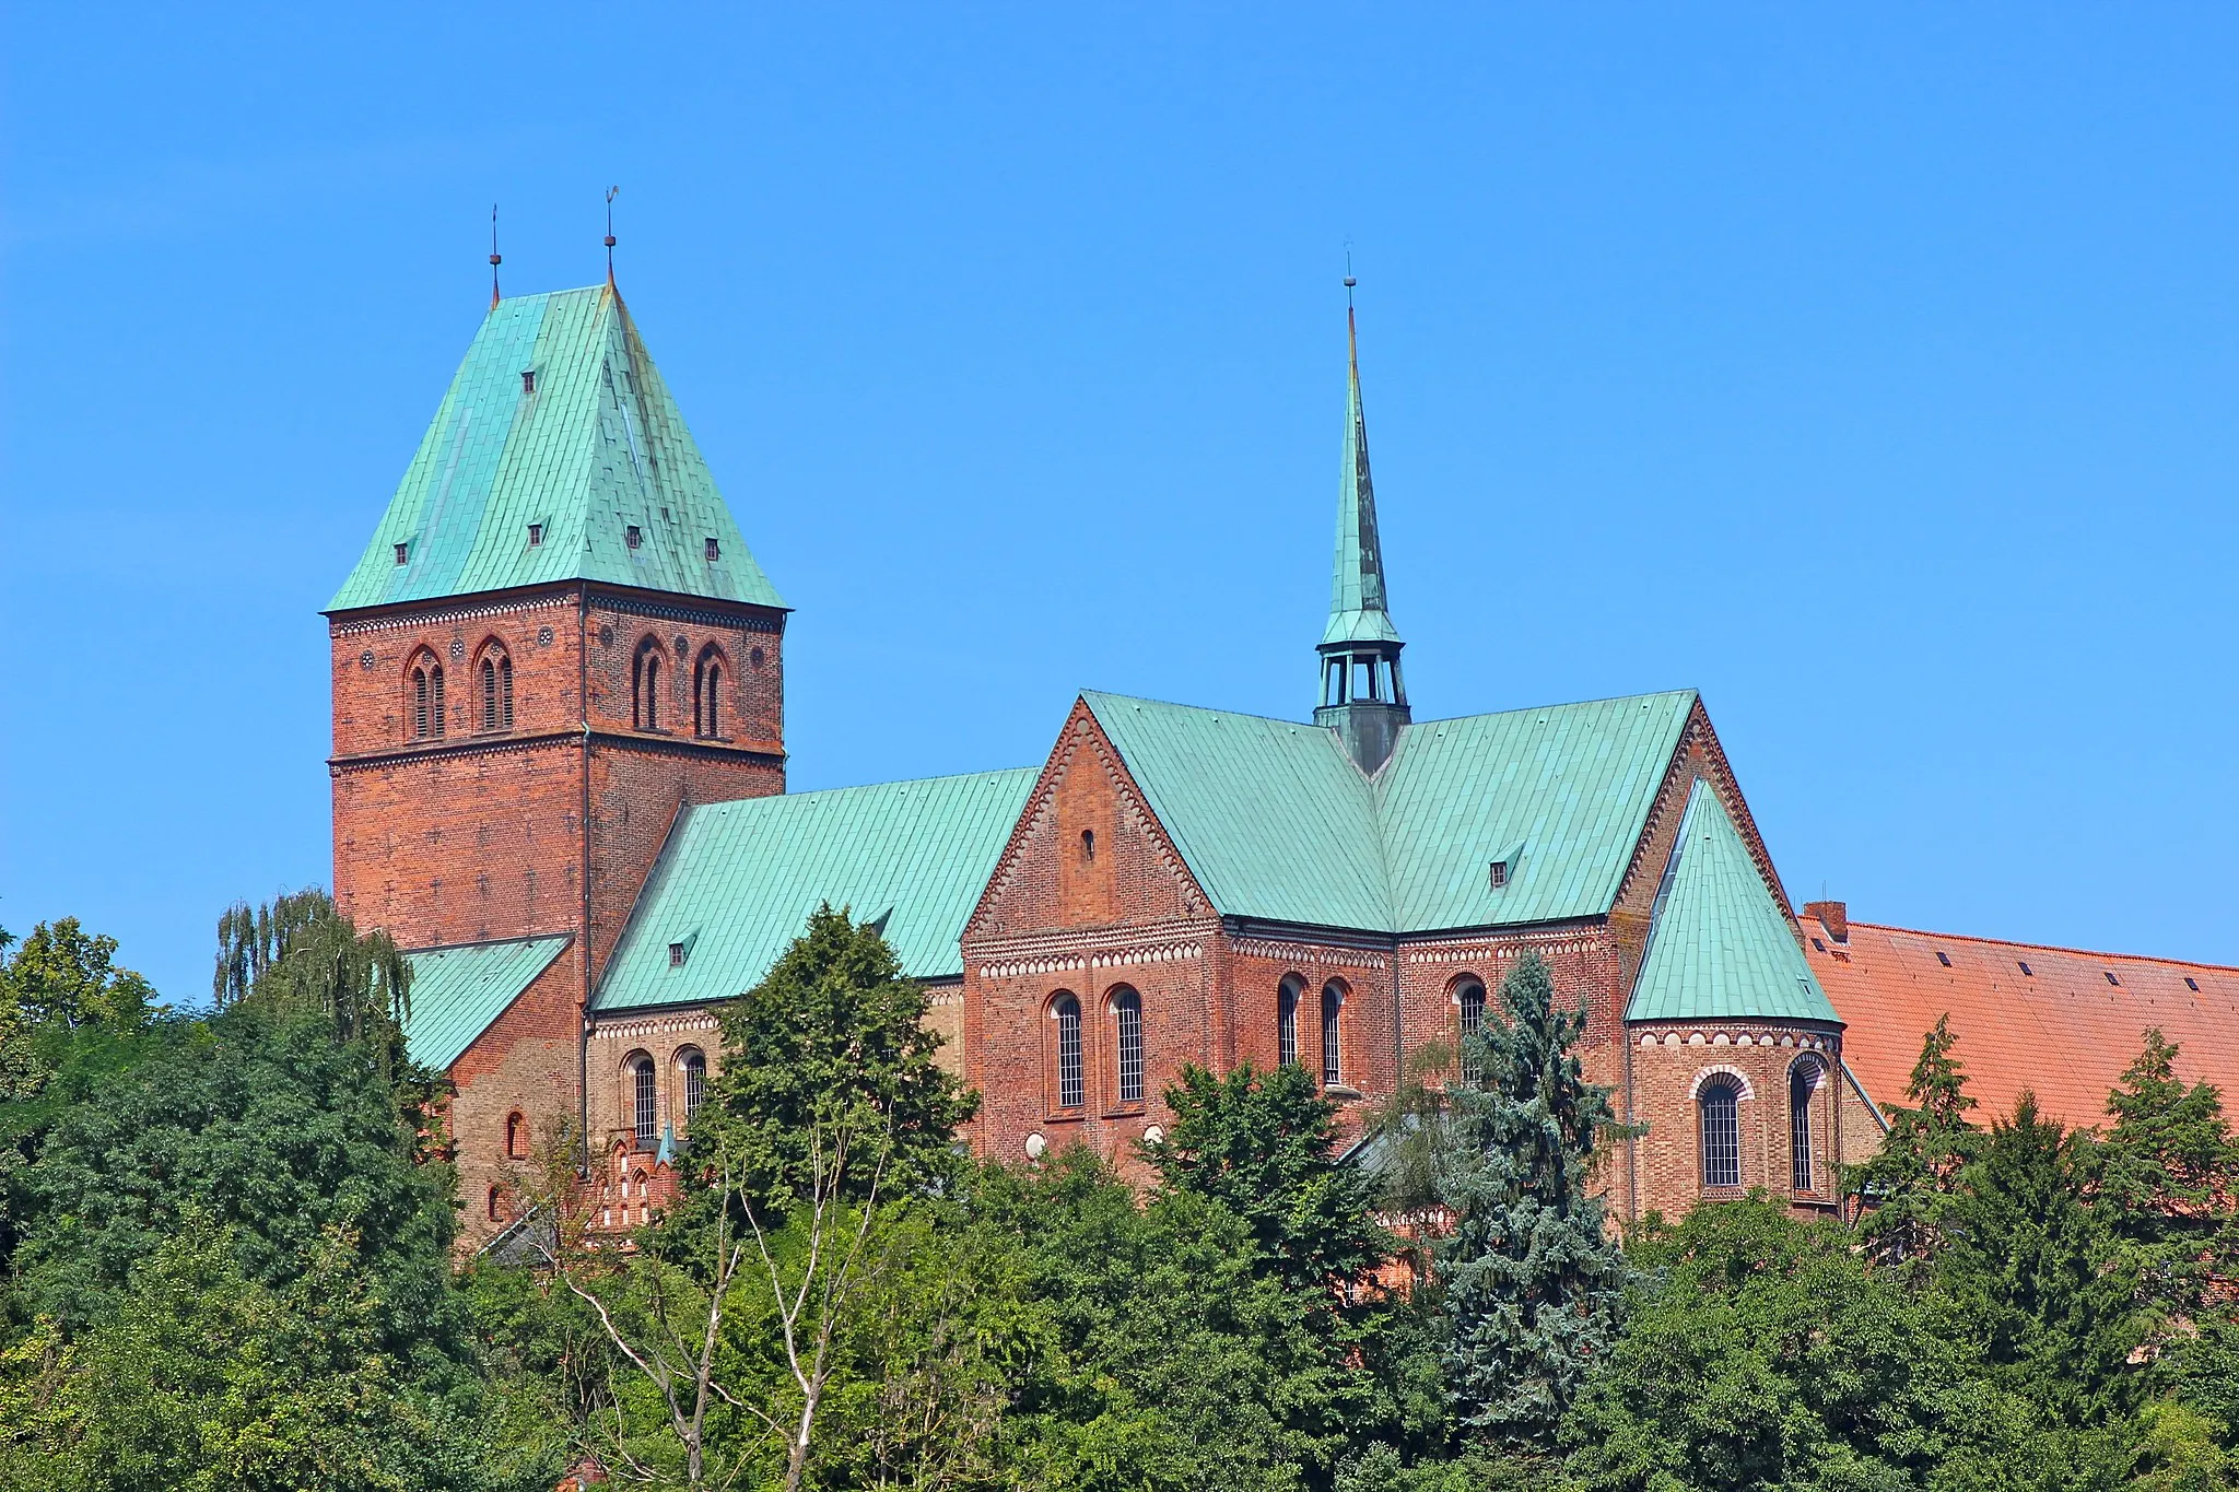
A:
[[[1843,944],[1811,915],[1802,928],[1811,973],[1847,1024],[1843,1060],[1883,1109],[1910,1105],[1921,1038],[1946,1011],[1979,1123],[2013,1114],[2024,1087],[2046,1116],[2105,1123],[2107,1089],[2147,1027],[2181,1049],[2179,1076],[2208,1078],[2226,1103],[2239,1098],[2239,969],[1863,922]]]

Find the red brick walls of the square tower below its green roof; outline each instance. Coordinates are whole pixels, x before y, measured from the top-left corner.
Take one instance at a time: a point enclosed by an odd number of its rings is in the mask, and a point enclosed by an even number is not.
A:
[[[779,626],[781,615],[768,611],[580,586],[331,620],[343,910],[407,948],[578,937],[452,1067],[450,1127],[470,1241],[490,1228],[488,1188],[506,1186],[515,1168],[504,1154],[506,1116],[519,1112],[537,1136],[551,1136],[578,1114],[584,935],[598,969],[678,805],[784,792]],[[631,725],[631,660],[647,638],[663,651],[652,731]],[[701,740],[692,691],[710,646],[723,664],[721,711],[716,736]],[[441,740],[412,736],[407,676],[423,649],[446,671]],[[479,729],[488,649],[513,662],[510,729]],[[663,1056],[663,1074],[672,1058]],[[613,1123],[613,1085],[593,1076],[589,1096],[598,1139]]]

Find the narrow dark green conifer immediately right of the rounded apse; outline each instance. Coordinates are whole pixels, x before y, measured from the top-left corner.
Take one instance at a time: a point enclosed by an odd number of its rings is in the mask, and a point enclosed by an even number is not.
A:
[[[1905,1085],[1914,1107],[1896,1112],[1881,1152],[1852,1172],[1852,1186],[1872,1206],[1863,1221],[1867,1248],[1883,1264],[1934,1255],[1946,1237],[1952,1181],[1982,1145],[1968,1121],[1975,1101],[1966,1067],[1952,1056],[1957,1040],[1950,1016],[1937,1016]]]

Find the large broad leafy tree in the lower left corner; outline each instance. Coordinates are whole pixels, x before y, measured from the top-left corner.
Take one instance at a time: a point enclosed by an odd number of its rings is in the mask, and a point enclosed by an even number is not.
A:
[[[60,1485],[484,1483],[450,1177],[327,1018],[179,1029],[60,1114],[25,1194]]]

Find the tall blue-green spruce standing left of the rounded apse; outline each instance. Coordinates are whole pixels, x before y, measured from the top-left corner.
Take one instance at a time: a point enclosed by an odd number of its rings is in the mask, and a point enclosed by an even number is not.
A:
[[[1610,1089],[1587,1083],[1572,1054],[1585,1013],[1556,1009],[1538,955],[1500,982],[1500,1007],[1469,1038],[1482,1080],[1451,1092],[1437,1190],[1453,1233],[1437,1275],[1458,1425],[1545,1447],[1623,1306],[1623,1253],[1590,1190],[1594,1141],[1617,1121]]]

